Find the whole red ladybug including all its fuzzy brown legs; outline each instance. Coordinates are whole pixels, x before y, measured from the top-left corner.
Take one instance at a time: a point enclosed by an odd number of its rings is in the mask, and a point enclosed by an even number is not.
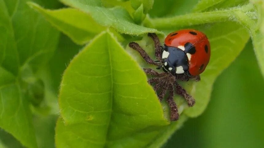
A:
[[[138,51],[147,63],[156,65],[157,69],[163,69],[164,73],[158,73],[149,68],[144,68],[144,71],[146,74],[155,76],[148,79],[148,82],[155,84],[154,90],[156,92],[161,90],[158,94],[159,101],[162,101],[169,91],[167,102],[171,108],[170,120],[178,120],[178,108],[173,100],[174,91],[185,98],[188,106],[191,107],[195,104],[195,99],[178,84],[178,80],[193,79],[200,81],[200,74],[205,70],[210,60],[209,40],[204,33],[192,29],[170,33],[165,38],[164,46],[160,46],[159,38],[155,33],[148,33],[148,36],[154,42],[157,61],[151,59],[137,43],[130,42],[129,47]]]

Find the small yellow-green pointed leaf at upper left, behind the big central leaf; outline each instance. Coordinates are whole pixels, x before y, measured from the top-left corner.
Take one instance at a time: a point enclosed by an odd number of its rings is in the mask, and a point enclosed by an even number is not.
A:
[[[91,16],[77,9],[48,10],[32,2],[28,4],[38,10],[52,25],[71,37],[77,44],[85,44],[98,33],[106,30],[106,27],[96,23]]]

